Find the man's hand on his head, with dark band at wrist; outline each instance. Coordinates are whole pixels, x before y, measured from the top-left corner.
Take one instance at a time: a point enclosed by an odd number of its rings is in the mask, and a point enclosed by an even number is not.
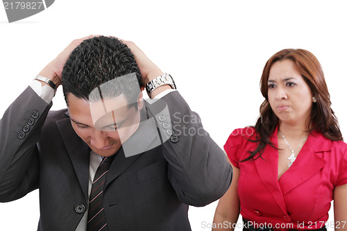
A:
[[[81,44],[81,42],[83,42],[83,40],[87,40],[87,39],[90,39],[90,38],[95,37],[95,36],[97,36],[97,35],[90,35],[90,36],[82,37],[81,39],[72,41],[69,44],[69,46],[67,46],[64,49],[64,51],[62,51],[57,56],[57,58],[55,58],[53,61],[49,62],[49,64],[46,65],[46,67],[44,67],[44,69],[42,69],[42,71],[40,71],[39,75],[46,77],[46,78],[49,78],[58,87],[58,85],[60,85],[61,79],[62,79],[62,68],[64,67],[65,62],[67,61],[67,58],[69,58],[69,55],[71,54],[71,52],[76,48],[76,46]],[[42,85],[46,85],[46,83],[42,82]]]

